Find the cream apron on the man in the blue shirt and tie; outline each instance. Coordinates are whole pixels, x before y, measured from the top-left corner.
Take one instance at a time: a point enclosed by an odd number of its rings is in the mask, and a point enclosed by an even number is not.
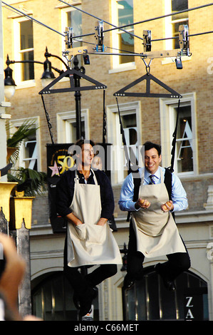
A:
[[[186,252],[172,213],[163,212],[160,207],[169,200],[162,170],[160,184],[142,185],[143,180],[144,175],[141,178],[139,198],[147,199],[151,205],[146,210],[142,208],[132,212],[137,251],[147,258]]]

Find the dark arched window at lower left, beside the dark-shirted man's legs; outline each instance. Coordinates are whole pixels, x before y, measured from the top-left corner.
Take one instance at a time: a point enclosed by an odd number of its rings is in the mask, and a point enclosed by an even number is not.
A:
[[[73,304],[73,288],[63,272],[51,273],[33,289],[33,315],[44,321],[76,321],[78,312]],[[93,300],[94,321],[98,321],[98,297]]]

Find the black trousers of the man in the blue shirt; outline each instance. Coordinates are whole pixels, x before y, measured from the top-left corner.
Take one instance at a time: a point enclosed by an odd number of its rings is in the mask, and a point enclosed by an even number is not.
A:
[[[186,248],[186,247],[185,247]],[[162,274],[167,279],[175,280],[182,272],[191,266],[189,254],[187,252],[177,252],[175,254],[167,254],[168,261],[161,264]],[[143,262],[145,256],[142,252],[137,252],[137,241],[133,224],[130,222],[130,239],[128,244],[127,272],[128,276],[134,280],[140,280],[143,277]]]

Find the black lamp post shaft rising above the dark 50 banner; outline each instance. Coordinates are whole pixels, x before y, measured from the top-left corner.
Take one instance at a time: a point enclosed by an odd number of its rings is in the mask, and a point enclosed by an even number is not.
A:
[[[74,70],[79,71],[78,68],[78,57],[75,56],[73,59],[74,64]],[[75,86],[80,87],[80,77],[76,76],[76,74],[73,75]],[[76,140],[81,138],[81,110],[80,110],[80,91],[76,91],[75,94],[75,100],[76,100]]]

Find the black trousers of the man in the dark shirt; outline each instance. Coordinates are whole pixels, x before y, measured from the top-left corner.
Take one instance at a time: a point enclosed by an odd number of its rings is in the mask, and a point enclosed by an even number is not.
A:
[[[80,296],[86,294],[88,287],[95,287],[103,282],[103,280],[117,273],[117,264],[101,264],[93,272],[90,272],[90,274],[84,274],[83,271],[80,271],[80,269],[84,270],[85,267],[68,267],[67,239],[65,241],[63,259],[63,272],[73,287],[74,292]]]

